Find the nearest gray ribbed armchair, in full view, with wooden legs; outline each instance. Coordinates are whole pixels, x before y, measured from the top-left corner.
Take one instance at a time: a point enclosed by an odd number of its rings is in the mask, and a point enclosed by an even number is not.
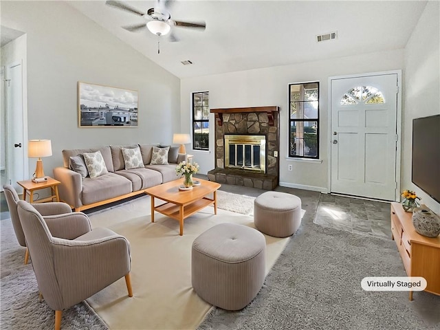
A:
[[[55,311],[61,329],[63,309],[96,294],[125,276],[129,297],[130,244],[106,228],[91,229],[82,212],[43,217],[28,202],[18,202],[18,214],[41,294]]]

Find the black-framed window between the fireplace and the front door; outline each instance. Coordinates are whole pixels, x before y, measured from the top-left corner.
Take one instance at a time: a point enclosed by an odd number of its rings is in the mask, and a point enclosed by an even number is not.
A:
[[[289,85],[289,157],[319,157],[319,83]]]

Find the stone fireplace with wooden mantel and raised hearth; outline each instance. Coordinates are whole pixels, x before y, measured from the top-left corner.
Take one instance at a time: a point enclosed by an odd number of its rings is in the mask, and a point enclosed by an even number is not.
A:
[[[211,181],[272,190],[279,181],[278,107],[211,109],[215,165]]]

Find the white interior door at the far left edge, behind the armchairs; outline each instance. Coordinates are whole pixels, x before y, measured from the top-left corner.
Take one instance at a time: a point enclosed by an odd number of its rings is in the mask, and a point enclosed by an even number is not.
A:
[[[23,130],[23,76],[20,62],[6,67],[6,175],[9,184],[21,191],[17,181],[25,178],[25,140]]]

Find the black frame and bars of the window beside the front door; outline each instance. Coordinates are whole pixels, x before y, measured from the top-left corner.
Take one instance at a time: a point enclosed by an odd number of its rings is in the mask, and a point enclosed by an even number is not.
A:
[[[310,100],[302,100],[296,101],[292,100],[291,86],[292,85],[309,85],[309,84],[317,84],[318,85],[318,97],[315,101]],[[320,159],[320,81],[307,81],[300,83],[289,83],[287,85],[287,93],[289,94],[288,103],[287,103],[287,157],[288,159],[311,159],[311,160],[319,160]],[[291,104],[292,102],[318,102],[317,109],[317,117],[316,118],[292,118],[291,117]],[[316,122],[316,156],[309,155],[292,155],[292,123],[293,122]]]

